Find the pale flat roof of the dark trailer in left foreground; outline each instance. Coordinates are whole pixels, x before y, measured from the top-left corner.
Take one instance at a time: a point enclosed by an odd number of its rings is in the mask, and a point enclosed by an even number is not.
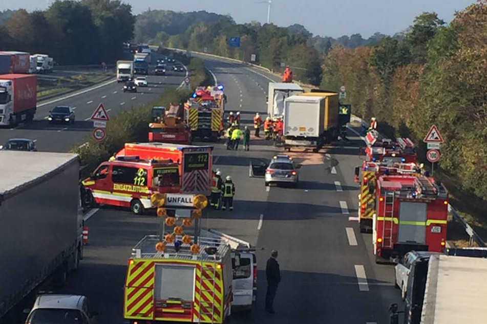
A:
[[[22,187],[69,164],[74,159],[78,159],[78,154],[2,150],[0,195]]]

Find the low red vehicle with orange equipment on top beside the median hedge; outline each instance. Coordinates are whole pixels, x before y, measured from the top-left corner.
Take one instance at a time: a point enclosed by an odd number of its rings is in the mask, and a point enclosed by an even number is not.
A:
[[[162,106],[152,108],[152,122],[149,124],[149,142],[191,144],[191,130],[187,114],[182,107],[171,105],[168,110]]]

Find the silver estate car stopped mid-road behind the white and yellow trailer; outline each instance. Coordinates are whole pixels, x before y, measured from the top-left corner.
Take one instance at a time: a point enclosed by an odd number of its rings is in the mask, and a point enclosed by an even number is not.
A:
[[[274,156],[265,170],[265,185],[269,186],[270,183],[290,183],[294,187],[298,187],[298,169],[300,167],[295,167],[292,158],[287,155]]]

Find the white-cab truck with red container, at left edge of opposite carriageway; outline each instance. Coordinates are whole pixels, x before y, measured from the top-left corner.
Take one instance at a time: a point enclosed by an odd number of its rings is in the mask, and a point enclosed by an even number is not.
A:
[[[0,75],[0,126],[32,121],[37,107],[37,77]]]

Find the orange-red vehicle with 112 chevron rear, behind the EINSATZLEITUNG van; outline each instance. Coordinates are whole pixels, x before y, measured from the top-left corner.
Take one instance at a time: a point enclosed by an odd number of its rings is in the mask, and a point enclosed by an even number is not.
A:
[[[179,166],[181,193],[211,193],[213,146],[177,145],[168,143],[126,143],[116,156],[171,159]]]

